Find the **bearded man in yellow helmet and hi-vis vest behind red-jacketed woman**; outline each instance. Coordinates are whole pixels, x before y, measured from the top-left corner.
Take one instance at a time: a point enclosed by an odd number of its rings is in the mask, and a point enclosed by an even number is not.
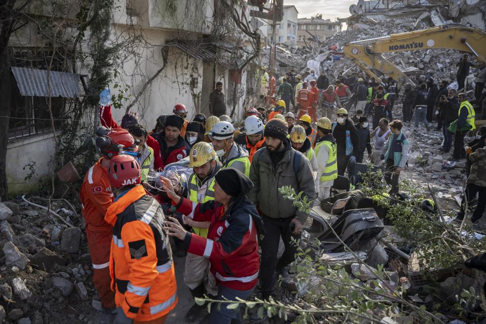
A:
[[[255,117],[255,116],[253,116]],[[189,168],[193,173],[188,180],[187,199],[193,204],[204,204],[214,200],[215,175],[221,169],[216,159],[216,152],[211,144],[199,142],[191,149]],[[208,237],[209,221],[194,221],[184,218],[186,225],[192,226],[196,235]],[[181,242],[182,244],[182,242]],[[192,297],[204,298],[205,294],[216,296],[216,281],[209,273],[209,260],[188,252],[184,268],[184,283],[191,291]],[[186,320],[193,322],[206,308],[194,303],[186,313]]]

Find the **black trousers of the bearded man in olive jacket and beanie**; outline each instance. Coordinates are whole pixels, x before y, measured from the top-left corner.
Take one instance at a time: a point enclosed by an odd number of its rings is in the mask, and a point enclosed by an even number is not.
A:
[[[290,222],[293,217],[289,218],[271,218],[263,216],[263,227],[265,228],[265,236],[260,242],[262,247],[262,259],[260,263],[260,288],[264,299],[273,294],[273,287],[276,280],[276,269],[281,269],[295,260],[297,247],[292,244],[292,237],[296,240],[300,238],[300,234],[292,234],[290,231]],[[278,243],[284,241],[285,252],[284,255],[277,262]]]

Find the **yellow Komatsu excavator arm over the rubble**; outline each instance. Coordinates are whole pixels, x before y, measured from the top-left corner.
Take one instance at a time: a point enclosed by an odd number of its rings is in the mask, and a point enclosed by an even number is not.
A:
[[[391,34],[389,36],[363,39],[344,46],[345,57],[352,60],[377,82],[381,82],[373,70],[397,80],[398,89],[413,82],[396,65],[388,61],[383,53],[406,52],[429,49],[454,49],[470,53],[478,61],[486,62],[486,33],[460,24],[449,24],[423,30]],[[446,59],[445,57],[443,59]]]

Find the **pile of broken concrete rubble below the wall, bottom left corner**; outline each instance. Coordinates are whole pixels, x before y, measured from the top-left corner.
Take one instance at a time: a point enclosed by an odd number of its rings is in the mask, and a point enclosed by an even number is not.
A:
[[[0,203],[0,322],[98,322],[83,218],[65,205],[51,204],[60,220],[25,201]]]

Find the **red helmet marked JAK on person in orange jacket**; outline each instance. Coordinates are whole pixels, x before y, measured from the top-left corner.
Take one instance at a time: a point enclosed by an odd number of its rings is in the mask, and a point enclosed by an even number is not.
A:
[[[108,165],[108,180],[114,189],[140,184],[142,182],[140,165],[133,156],[116,155]]]

